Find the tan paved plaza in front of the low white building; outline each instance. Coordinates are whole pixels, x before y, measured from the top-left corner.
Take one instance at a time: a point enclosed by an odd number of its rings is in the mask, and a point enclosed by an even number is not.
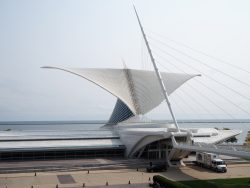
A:
[[[196,166],[169,168],[163,173],[147,173],[145,169],[90,170],[0,174],[0,188],[79,188],[79,187],[148,187],[152,177],[163,175],[172,180],[250,177],[250,164],[228,165],[227,173],[216,173]],[[129,184],[130,182],[130,184]]]

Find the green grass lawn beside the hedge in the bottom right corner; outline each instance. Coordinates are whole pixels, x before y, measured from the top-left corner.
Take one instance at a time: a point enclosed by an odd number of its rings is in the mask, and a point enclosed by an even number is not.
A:
[[[214,180],[193,180],[180,181],[180,183],[192,188],[247,188],[250,187],[249,178],[214,179]]]

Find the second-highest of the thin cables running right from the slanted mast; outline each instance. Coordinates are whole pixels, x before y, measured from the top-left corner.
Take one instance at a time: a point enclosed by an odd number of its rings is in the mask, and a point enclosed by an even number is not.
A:
[[[186,56],[186,57],[188,57],[189,59],[192,59],[193,61],[196,61],[196,62],[198,62],[198,63],[200,63],[200,64],[202,64],[202,65],[204,65],[204,66],[206,66],[206,67],[208,67],[208,68],[210,68],[210,69],[212,69],[212,70],[214,70],[214,71],[216,71],[216,72],[218,72],[218,73],[220,73],[220,74],[222,74],[222,75],[224,75],[224,76],[227,76],[228,78],[230,78],[230,79],[232,79],[232,80],[237,81],[238,83],[241,83],[241,84],[243,84],[243,85],[245,85],[245,86],[250,87],[250,84],[248,84],[247,82],[244,82],[244,81],[242,81],[242,80],[240,80],[240,79],[238,79],[238,78],[236,78],[236,77],[234,77],[234,76],[232,76],[232,75],[230,75],[230,74],[228,74],[228,73],[225,73],[225,72],[223,72],[223,71],[221,71],[221,70],[219,70],[219,69],[217,69],[217,68],[214,68],[214,67],[212,67],[212,66],[210,66],[210,65],[208,65],[208,64],[206,64],[206,63],[204,63],[203,61],[201,61],[201,60],[199,60],[199,59],[197,59],[197,58],[195,58],[195,57],[192,57],[192,56],[188,55],[187,53],[182,52],[181,50],[178,50],[178,49],[176,49],[176,48],[174,48],[174,47],[172,47],[172,46],[170,46],[170,45],[168,45],[168,44],[166,44],[166,43],[164,43],[164,42],[162,42],[162,41],[159,41],[159,40],[157,40],[157,39],[154,39],[154,38],[152,38],[152,37],[150,37],[150,36],[149,36],[149,38],[150,38],[151,40],[155,41],[155,42],[158,42],[158,43],[160,43],[160,44],[162,44],[162,45],[164,45],[164,46],[166,46],[166,47],[168,47],[168,48],[170,48],[170,49],[172,49],[172,50],[174,50],[174,51],[176,51],[176,52],[178,52],[178,53],[180,53],[180,54],[182,54],[182,55],[184,55],[184,56]]]

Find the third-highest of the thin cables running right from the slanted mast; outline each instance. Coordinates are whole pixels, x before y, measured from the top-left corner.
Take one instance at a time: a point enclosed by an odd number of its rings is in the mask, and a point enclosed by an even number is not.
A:
[[[152,44],[151,44],[151,45],[152,45]],[[210,75],[206,74],[205,72],[202,72],[202,71],[200,71],[199,69],[195,68],[195,67],[192,66],[191,64],[187,64],[185,61],[183,61],[183,60],[181,60],[181,59],[175,57],[174,55],[172,55],[172,54],[166,52],[165,50],[162,50],[162,49],[158,48],[158,47],[155,46],[155,45],[152,45],[152,46],[154,46],[156,49],[158,49],[159,51],[163,52],[164,54],[166,54],[166,55],[172,57],[172,58],[175,59],[177,62],[182,63],[182,64],[186,65],[186,66],[189,67],[189,68],[192,68],[192,69],[195,70],[196,72],[205,75],[205,76],[206,76],[207,78],[209,78],[210,80],[216,82],[217,84],[223,86],[224,88],[227,88],[228,90],[230,90],[230,91],[232,91],[233,93],[237,94],[238,96],[244,98],[245,100],[250,101],[250,98],[248,98],[248,97],[246,97],[245,95],[241,94],[240,92],[238,92],[238,91],[236,91],[236,90],[234,90],[234,89],[228,87],[227,85],[225,85],[225,84],[219,82],[218,80],[214,79],[213,77],[211,77]],[[155,53],[155,52],[154,52],[154,53]]]

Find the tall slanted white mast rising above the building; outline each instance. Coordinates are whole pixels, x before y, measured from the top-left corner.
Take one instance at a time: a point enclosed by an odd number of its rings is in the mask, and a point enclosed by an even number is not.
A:
[[[147,46],[147,49],[148,49],[148,53],[149,53],[151,62],[153,63],[153,66],[154,66],[154,69],[155,69],[156,76],[157,76],[158,81],[159,81],[159,83],[160,83],[160,86],[161,86],[161,90],[162,90],[163,96],[164,96],[165,101],[166,101],[166,103],[167,103],[167,105],[168,105],[168,108],[169,108],[170,114],[171,114],[171,116],[172,116],[172,119],[173,119],[173,121],[174,121],[174,124],[175,124],[175,126],[176,126],[176,128],[177,128],[177,130],[178,130],[178,132],[179,132],[180,129],[179,129],[178,123],[177,123],[177,121],[176,121],[176,119],[175,119],[175,116],[174,116],[174,113],[173,113],[173,110],[172,110],[172,107],[171,107],[171,104],[170,104],[170,101],[169,101],[169,98],[168,98],[168,93],[167,93],[166,87],[165,87],[165,85],[164,85],[164,83],[163,83],[163,80],[162,80],[162,78],[161,78],[161,73],[159,72],[159,70],[158,70],[158,68],[157,68],[157,66],[156,66],[155,59],[154,59],[153,54],[152,54],[152,51],[151,51],[151,49],[150,49],[150,47],[149,47],[147,37],[146,37],[146,35],[145,35],[145,33],[144,33],[144,30],[143,30],[143,27],[142,27],[140,18],[139,18],[138,14],[137,14],[137,11],[136,11],[136,9],[135,9],[135,6],[133,5],[133,7],[134,7],[134,10],[135,10],[135,14],[136,14],[136,17],[137,17],[139,26],[140,26],[140,28],[141,28],[142,36],[143,36],[143,38],[144,38],[144,41],[145,41],[146,46]]]

